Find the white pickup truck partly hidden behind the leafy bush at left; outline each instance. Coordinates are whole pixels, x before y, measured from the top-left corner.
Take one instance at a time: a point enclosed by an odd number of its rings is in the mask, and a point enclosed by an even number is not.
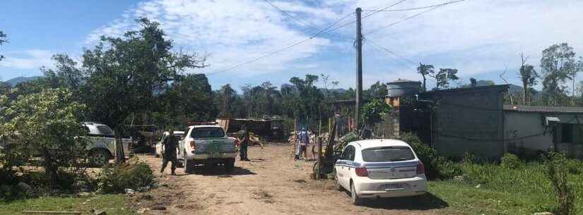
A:
[[[87,147],[89,151],[89,164],[100,167],[109,163],[115,156],[114,132],[110,126],[100,123],[83,123],[88,130]],[[124,154],[129,156],[129,145],[133,142],[131,138],[122,138]]]

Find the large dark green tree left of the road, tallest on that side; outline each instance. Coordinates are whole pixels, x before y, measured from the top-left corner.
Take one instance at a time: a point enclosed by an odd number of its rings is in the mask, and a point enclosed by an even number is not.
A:
[[[90,117],[114,127],[116,142],[121,142],[120,131],[128,116],[151,111],[155,93],[185,69],[204,67],[206,60],[196,54],[173,53],[172,40],[165,38],[159,23],[147,18],[136,21],[140,30],[121,38],[102,36],[100,44],[83,53],[87,80],[81,90]],[[123,156],[118,151],[116,157]]]

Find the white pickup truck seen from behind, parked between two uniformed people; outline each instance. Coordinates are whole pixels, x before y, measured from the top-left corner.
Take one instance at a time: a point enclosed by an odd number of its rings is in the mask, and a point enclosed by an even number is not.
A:
[[[224,164],[226,171],[235,167],[237,140],[228,137],[218,125],[192,125],[179,141],[178,159],[184,162],[184,171],[192,173],[194,166]]]

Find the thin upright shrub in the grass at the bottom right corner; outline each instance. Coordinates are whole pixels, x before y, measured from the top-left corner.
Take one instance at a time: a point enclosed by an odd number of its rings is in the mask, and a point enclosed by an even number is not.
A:
[[[575,214],[575,191],[568,182],[567,156],[563,153],[550,152],[545,159],[545,165],[546,176],[553,185],[557,197],[558,207],[555,214]]]

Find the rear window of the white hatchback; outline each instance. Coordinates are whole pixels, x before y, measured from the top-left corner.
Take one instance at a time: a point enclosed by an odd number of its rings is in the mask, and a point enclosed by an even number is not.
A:
[[[365,162],[408,161],[415,159],[409,147],[372,147],[363,150]]]

